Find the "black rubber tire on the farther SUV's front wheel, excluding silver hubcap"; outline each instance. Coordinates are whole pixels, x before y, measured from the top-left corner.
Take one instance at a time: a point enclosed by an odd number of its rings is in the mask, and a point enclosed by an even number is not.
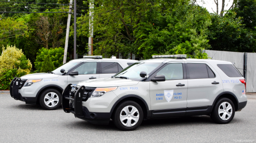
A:
[[[56,106],[53,106],[53,107],[49,107],[45,104],[45,96],[46,94],[48,93],[56,93],[56,95],[58,96],[59,98],[59,101],[57,102],[57,105]],[[56,95],[54,94],[54,97],[56,97]],[[46,99],[47,100],[47,99]],[[55,90],[55,89],[47,89],[45,91],[43,91],[41,94],[40,94],[40,98],[39,98],[39,103],[41,105],[42,108],[44,109],[47,109],[47,110],[55,110],[57,108],[59,108],[59,106],[61,105],[61,94],[59,93],[59,91]],[[51,105],[51,104],[50,104]]]

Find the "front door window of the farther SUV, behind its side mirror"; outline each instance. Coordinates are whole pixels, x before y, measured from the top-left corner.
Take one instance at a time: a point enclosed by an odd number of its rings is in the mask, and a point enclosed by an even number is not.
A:
[[[77,67],[74,71],[78,71],[78,74],[96,74],[97,63],[84,63]]]

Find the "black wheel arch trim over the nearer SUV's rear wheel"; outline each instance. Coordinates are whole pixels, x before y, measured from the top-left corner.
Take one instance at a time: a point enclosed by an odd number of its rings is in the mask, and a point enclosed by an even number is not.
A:
[[[230,99],[233,103],[234,103],[234,108],[235,108],[235,111],[238,110],[238,98],[236,97],[236,95],[234,95],[233,93],[231,92],[222,92],[220,93],[214,100],[214,103],[212,103],[212,106],[211,106],[211,110],[210,112],[212,111],[212,109],[214,108],[215,106],[215,103],[221,99],[221,98],[228,98]]]

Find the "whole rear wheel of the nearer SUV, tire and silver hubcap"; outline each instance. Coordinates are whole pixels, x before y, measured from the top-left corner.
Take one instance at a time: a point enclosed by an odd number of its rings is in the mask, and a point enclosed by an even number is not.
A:
[[[233,102],[228,98],[221,98],[215,104],[210,117],[216,123],[227,124],[234,118],[234,112]]]

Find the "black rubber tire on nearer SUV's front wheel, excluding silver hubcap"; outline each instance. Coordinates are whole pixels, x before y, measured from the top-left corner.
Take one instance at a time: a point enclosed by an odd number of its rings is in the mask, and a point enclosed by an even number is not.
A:
[[[139,119],[138,119],[138,122],[133,125],[132,127],[126,127],[124,126],[121,121],[120,121],[120,113],[122,111],[122,109],[126,106],[134,106],[138,109],[139,111]],[[133,131],[135,129],[137,129],[141,122],[143,120],[143,110],[142,108],[140,107],[140,105],[134,101],[124,101],[122,102],[121,104],[118,105],[118,107],[115,109],[114,111],[114,118],[113,118],[113,122],[115,124],[115,126],[120,129],[120,130],[123,130],[123,131]],[[127,122],[127,121],[126,121]],[[131,121],[132,122],[132,121]]]

